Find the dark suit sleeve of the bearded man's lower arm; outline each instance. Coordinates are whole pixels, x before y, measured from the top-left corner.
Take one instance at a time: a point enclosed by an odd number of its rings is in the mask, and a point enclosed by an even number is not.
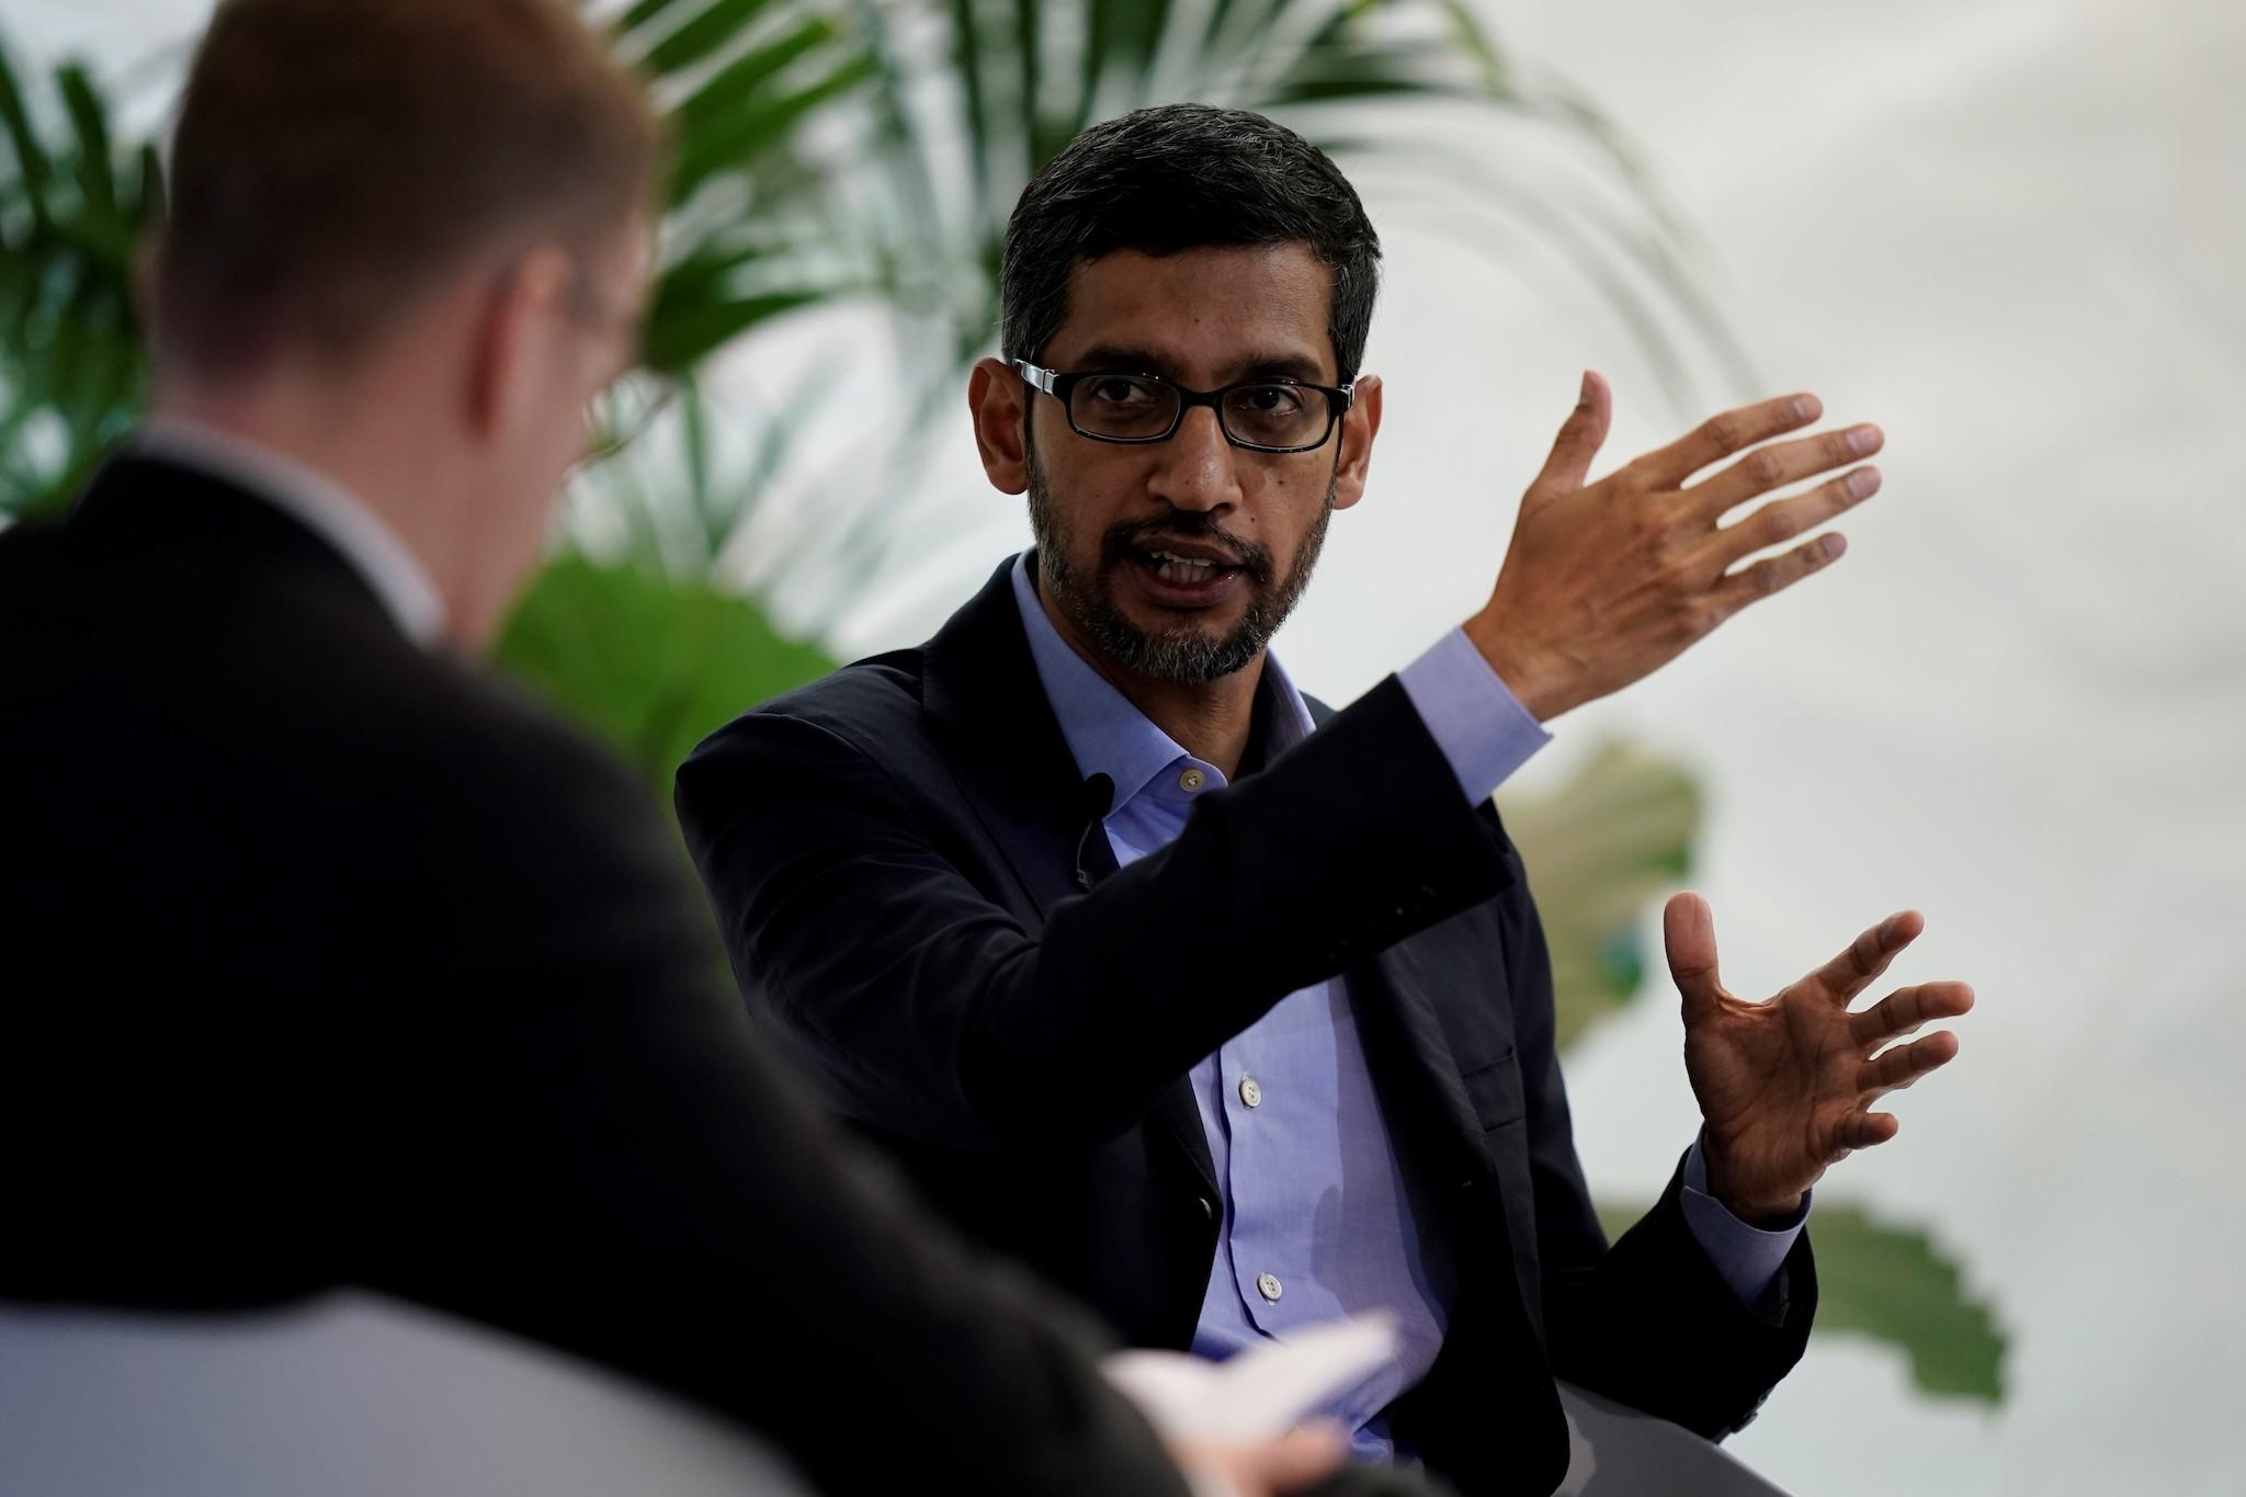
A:
[[[1808,1234],[1754,1306],[1693,1239],[1671,1176],[1608,1248],[1583,1185],[1554,1050],[1552,972],[1536,909],[1505,900],[1514,1035],[1527,1095],[1543,1320],[1556,1376],[1707,1439],[1750,1418],[1801,1358],[1817,1308]]]

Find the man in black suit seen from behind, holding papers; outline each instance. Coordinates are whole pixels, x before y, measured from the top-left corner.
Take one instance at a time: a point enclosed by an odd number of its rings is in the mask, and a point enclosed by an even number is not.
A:
[[[155,417],[0,536],[0,1297],[368,1286],[820,1490],[1181,1497],[1074,1315],[764,1059],[645,792],[465,662],[633,355],[658,175],[562,0],[220,7]]]

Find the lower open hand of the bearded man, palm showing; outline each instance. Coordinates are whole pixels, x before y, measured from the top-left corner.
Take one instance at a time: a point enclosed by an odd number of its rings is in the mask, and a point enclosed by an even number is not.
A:
[[[1684,997],[1684,1075],[1707,1120],[1707,1185],[1734,1216],[1790,1216],[1828,1165],[1896,1136],[1893,1113],[1871,1111],[1875,1100],[1956,1057],[1947,1030],[1873,1053],[1970,1010],[1965,983],[1920,983],[1848,1010],[1925,927],[1918,911],[1889,916],[1779,997],[1747,1003],[1716,974],[1707,900],[1669,900],[1669,972]]]

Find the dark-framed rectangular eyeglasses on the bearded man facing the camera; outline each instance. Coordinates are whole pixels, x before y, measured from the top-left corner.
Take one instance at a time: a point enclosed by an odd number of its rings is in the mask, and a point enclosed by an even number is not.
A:
[[[1334,435],[1357,386],[1249,379],[1222,391],[1188,391],[1157,375],[1089,370],[1056,375],[1029,359],[1013,368],[1033,391],[1044,391],[1069,413],[1069,431],[1094,442],[1168,442],[1186,411],[1208,406],[1233,447],[1249,451],[1312,451]]]

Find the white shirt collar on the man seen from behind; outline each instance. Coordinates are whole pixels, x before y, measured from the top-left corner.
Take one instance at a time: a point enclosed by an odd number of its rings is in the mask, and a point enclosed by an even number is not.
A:
[[[200,422],[164,415],[141,424],[133,449],[263,498],[332,545],[413,644],[436,649],[445,635],[445,599],[429,568],[382,516],[326,474]]]

